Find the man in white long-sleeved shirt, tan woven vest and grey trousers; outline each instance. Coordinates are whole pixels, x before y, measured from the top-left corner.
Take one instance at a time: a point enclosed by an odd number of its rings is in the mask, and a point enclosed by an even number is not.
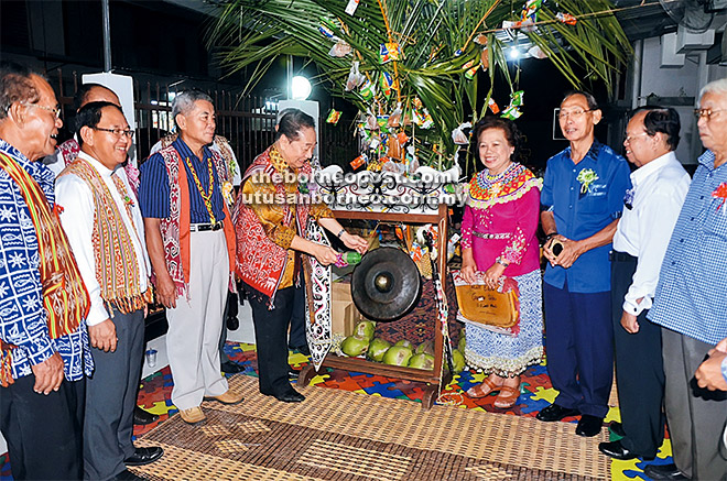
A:
[[[121,164],[133,130],[111,102],[90,102],[76,117],[78,156],[56,181],[61,221],[90,295],[86,318],[96,364],[86,385],[84,478],[139,479],[127,466],[159,459],[134,448],[133,411],[152,302],[141,211]]]

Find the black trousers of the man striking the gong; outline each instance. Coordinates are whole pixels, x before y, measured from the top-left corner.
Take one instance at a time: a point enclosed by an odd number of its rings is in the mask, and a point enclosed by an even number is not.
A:
[[[250,286],[247,289],[251,293],[248,298],[254,324],[260,392],[283,395],[292,389],[287,380],[287,327],[295,306],[295,291],[301,287],[279,289],[272,309],[268,309],[267,296]]]

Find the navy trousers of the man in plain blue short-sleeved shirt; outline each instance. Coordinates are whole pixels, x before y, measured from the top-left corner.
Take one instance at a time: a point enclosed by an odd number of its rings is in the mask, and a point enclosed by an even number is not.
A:
[[[614,382],[611,296],[543,283],[545,352],[555,404],[606,417]]]

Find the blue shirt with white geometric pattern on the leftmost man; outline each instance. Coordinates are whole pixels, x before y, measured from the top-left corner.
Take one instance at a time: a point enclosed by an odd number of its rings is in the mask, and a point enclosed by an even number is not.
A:
[[[31,162],[0,139],[0,151],[11,156],[41,186],[53,206],[55,175],[42,162]],[[46,361],[55,352],[63,358],[68,381],[90,375],[94,361],[88,347],[86,323],[58,339],[48,336],[47,315],[39,271],[37,234],[18,184],[0,168],[0,339],[18,346],[12,349],[12,378],[32,373],[31,365]]]

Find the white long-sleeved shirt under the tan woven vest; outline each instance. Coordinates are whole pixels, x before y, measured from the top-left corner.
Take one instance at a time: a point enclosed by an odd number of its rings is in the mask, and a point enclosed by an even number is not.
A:
[[[96,158],[80,152],[79,158],[87,161],[101,176],[113,201],[121,214],[121,219],[129,230],[129,237],[133,244],[134,253],[137,254],[137,267],[139,270],[139,285],[141,291],[144,292],[149,287],[149,275],[151,273],[151,264],[147,255],[147,242],[144,240],[144,222],[139,209],[139,203],[134,201],[131,206],[132,219],[129,218],[127,212],[126,203],[121,198],[111,175],[118,175],[123,182],[127,192],[132,196],[127,173],[122,166],[118,166],[116,171],[109,171]],[[135,199],[134,199],[135,200]],[[94,241],[91,240],[94,233],[94,212],[96,206],[94,204],[94,196],[91,189],[85,181],[73,174],[64,175],[55,181],[55,201],[63,208],[61,214],[61,223],[63,230],[68,236],[68,242],[73,250],[78,270],[84,278],[86,288],[90,296],[90,311],[86,323],[89,326],[95,326],[109,319],[109,313],[106,309],[104,299],[101,298],[101,286],[96,278],[96,261],[94,259]]]

